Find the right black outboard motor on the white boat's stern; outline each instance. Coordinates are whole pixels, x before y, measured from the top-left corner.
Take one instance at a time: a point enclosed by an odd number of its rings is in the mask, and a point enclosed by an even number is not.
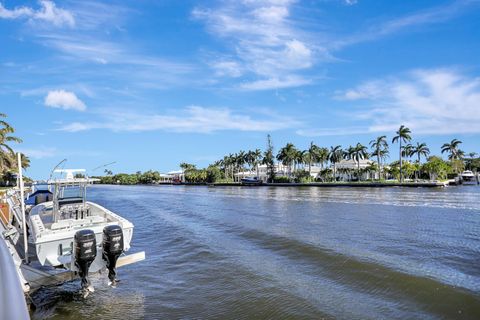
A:
[[[118,225],[103,228],[103,260],[107,261],[108,279],[115,286],[117,283],[115,267],[117,259],[123,252],[123,231]]]

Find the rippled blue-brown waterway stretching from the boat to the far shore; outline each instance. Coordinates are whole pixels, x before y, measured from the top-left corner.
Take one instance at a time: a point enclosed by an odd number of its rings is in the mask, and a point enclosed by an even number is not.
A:
[[[480,319],[480,188],[94,186],[147,260],[34,319]]]

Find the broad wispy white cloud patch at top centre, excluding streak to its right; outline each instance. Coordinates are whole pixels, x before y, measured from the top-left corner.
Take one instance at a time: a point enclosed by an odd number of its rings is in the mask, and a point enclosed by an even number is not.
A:
[[[193,10],[193,16],[205,21],[213,35],[227,41],[230,56],[234,57],[210,63],[216,74],[250,77],[241,87],[252,90],[309,83],[300,71],[313,66],[316,49],[306,33],[289,19],[294,2],[227,1],[217,8]]]

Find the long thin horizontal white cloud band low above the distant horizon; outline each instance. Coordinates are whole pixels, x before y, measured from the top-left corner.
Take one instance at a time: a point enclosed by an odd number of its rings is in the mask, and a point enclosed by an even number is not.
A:
[[[251,115],[234,113],[227,108],[190,106],[180,114],[142,114],[140,112],[105,112],[101,121],[73,122],[59,128],[79,132],[92,129],[112,131],[173,131],[211,133],[223,130],[274,131],[299,125],[295,119],[269,115],[254,119]]]

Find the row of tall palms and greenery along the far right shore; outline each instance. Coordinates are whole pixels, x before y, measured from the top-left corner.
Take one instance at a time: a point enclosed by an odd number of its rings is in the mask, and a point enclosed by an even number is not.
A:
[[[447,154],[444,160],[440,156],[430,155],[430,148],[424,142],[413,142],[411,131],[405,126],[395,132],[391,140],[379,136],[367,145],[360,142],[342,147],[341,145],[321,147],[311,142],[307,149],[297,148],[287,143],[274,154],[271,137],[267,138],[267,149],[239,151],[225,155],[207,169],[197,169],[193,164],[182,163],[187,182],[216,182],[213,178],[227,182],[238,182],[239,173],[250,171],[259,176],[259,166],[267,165],[269,182],[309,182],[309,181],[359,181],[366,176],[376,174],[376,180],[396,179],[446,179],[463,170],[480,171],[480,158],[476,152],[466,153],[460,149],[462,141],[453,139],[440,146],[441,154]],[[398,145],[398,160],[390,159],[391,145]],[[368,167],[361,168],[361,160],[370,159]],[[342,160],[352,160],[357,168],[337,168]],[[424,161],[422,161],[424,160]],[[276,172],[275,161],[283,165],[283,172]],[[320,172],[312,177],[312,167],[320,167]],[[207,175],[214,169],[216,175]],[[366,173],[371,173],[368,175]]]

